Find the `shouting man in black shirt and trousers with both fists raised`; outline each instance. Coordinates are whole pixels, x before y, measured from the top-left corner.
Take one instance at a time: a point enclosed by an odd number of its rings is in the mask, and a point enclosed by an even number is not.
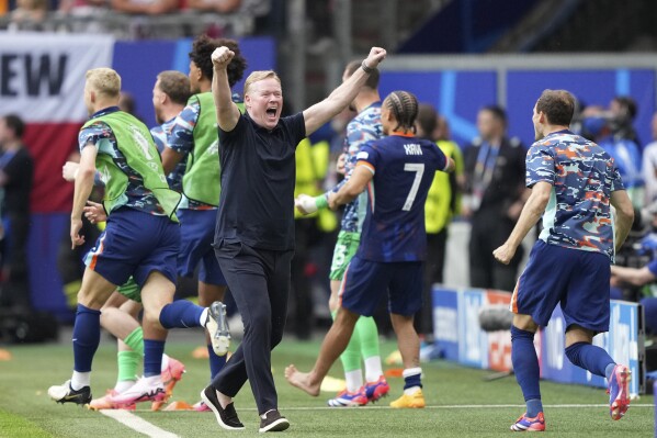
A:
[[[353,101],[386,52],[373,47],[346,82],[319,103],[281,117],[283,92],[274,71],[254,71],[245,82],[246,113],[231,101],[227,67],[235,53],[213,55],[212,90],[222,148],[222,198],[215,254],[234,294],[245,336],[226,367],[201,394],[226,429],[243,429],[233,397],[251,384],[260,431],[284,430],[277,409],[271,350],[283,337],[294,252],[296,145]]]

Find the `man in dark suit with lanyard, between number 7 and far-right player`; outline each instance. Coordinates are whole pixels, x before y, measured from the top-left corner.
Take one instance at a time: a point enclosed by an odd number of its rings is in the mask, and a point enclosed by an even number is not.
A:
[[[465,150],[463,214],[471,218],[469,279],[474,288],[512,291],[522,247],[509,265],[495,262],[492,250],[513,229],[526,199],[525,148],[507,136],[507,114],[499,106],[479,110],[479,137]]]

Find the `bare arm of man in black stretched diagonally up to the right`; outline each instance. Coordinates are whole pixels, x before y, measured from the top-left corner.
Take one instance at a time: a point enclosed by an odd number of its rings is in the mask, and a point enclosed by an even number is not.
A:
[[[347,105],[356,97],[360,88],[367,80],[370,71],[376,68],[385,56],[385,49],[372,47],[370,55],[363,60],[362,68],[355,70],[354,74],[342,82],[340,87],[336,88],[328,98],[304,111],[306,135],[313,134],[319,126],[324,125],[347,108]]]

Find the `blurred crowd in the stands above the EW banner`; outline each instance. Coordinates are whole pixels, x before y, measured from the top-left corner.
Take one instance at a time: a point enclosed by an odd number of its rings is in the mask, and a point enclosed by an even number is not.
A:
[[[270,0],[0,0],[0,29],[113,33],[133,40],[250,34]],[[226,20],[222,20],[222,19]]]

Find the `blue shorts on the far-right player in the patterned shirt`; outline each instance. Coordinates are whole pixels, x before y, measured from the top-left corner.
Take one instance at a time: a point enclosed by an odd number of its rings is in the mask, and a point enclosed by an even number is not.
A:
[[[539,240],[516,284],[511,312],[531,315],[545,327],[560,303],[566,329],[576,324],[596,333],[608,332],[610,277],[607,255]]]

